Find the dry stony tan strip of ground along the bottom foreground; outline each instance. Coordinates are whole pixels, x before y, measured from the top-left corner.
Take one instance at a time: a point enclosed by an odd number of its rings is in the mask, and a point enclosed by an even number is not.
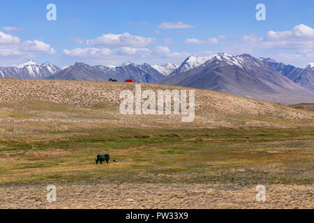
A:
[[[0,208],[314,208],[314,185],[55,184],[57,201],[46,199],[46,184],[1,185]]]

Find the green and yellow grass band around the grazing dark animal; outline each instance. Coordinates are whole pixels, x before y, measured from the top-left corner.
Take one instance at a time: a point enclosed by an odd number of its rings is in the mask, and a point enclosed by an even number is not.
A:
[[[105,129],[54,134],[58,140],[50,135],[30,144],[2,139],[0,183],[82,178],[117,183],[313,183],[313,129]],[[96,155],[106,152],[119,162],[96,165]],[[3,158],[7,153],[12,156]]]

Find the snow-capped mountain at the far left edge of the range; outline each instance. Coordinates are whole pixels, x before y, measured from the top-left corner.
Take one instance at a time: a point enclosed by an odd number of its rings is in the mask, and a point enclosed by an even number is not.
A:
[[[61,70],[52,63],[47,62],[39,65],[31,59],[17,67],[0,68],[0,77],[2,78],[20,78],[20,79],[45,79]]]

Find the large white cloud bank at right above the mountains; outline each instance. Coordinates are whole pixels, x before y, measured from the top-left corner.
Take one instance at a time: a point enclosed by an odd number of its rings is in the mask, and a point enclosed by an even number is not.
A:
[[[267,31],[264,36],[251,33],[225,50],[230,54],[255,54],[304,66],[314,60],[314,29],[298,24],[287,31]]]

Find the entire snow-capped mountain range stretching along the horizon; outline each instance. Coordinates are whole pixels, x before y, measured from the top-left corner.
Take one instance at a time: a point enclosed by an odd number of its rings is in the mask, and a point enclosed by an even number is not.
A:
[[[296,68],[270,58],[249,54],[189,56],[180,66],[173,63],[149,65],[125,62],[121,66],[89,66],[75,63],[59,68],[31,60],[17,67],[0,68],[0,77],[22,79],[68,79],[160,83],[208,89],[285,104],[314,102],[314,68]]]

